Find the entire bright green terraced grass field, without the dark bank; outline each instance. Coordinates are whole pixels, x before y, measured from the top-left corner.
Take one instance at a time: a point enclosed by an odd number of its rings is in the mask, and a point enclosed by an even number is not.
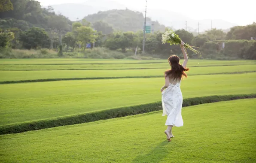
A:
[[[255,60],[189,60],[188,67],[181,83],[184,99],[256,93]],[[167,60],[1,59],[1,83],[27,83],[0,84],[0,127],[159,102],[160,76],[169,68]],[[112,79],[97,79],[102,77]],[[49,78],[69,81],[37,81]],[[174,127],[172,142],[165,139],[162,112],[21,130],[25,133],[0,135],[0,162],[255,163],[254,103],[185,107],[184,127]]]

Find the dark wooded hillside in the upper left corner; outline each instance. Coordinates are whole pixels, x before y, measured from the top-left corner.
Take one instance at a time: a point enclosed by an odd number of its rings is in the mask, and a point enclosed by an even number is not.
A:
[[[34,26],[49,29],[53,28],[54,24],[58,25],[59,22],[64,22],[65,27],[62,27],[65,30],[71,30],[72,21],[62,15],[56,15],[52,10],[42,8],[38,1],[12,0],[12,5],[13,10],[0,14],[0,28],[2,29],[27,30]]]

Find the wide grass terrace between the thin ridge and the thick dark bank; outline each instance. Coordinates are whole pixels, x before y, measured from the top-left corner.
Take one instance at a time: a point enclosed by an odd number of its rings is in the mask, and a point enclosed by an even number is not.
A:
[[[190,76],[183,97],[251,94],[256,73]],[[161,101],[163,78],[0,85],[0,125]]]

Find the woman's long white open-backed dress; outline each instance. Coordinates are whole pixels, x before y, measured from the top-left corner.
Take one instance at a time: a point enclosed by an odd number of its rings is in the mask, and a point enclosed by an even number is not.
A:
[[[162,116],[168,116],[165,123],[167,126],[183,126],[183,119],[181,116],[183,97],[180,90],[180,82],[177,82],[175,85],[173,85],[174,82],[169,83],[169,87],[162,92]]]

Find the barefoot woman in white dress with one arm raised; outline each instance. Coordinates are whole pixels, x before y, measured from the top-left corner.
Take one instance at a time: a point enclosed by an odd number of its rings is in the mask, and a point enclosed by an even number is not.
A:
[[[167,130],[165,130],[168,142],[174,137],[171,132],[172,127],[183,126],[181,116],[183,97],[180,90],[180,82],[183,77],[187,77],[185,72],[189,69],[186,68],[188,56],[184,48],[184,42],[181,42],[180,48],[184,55],[184,62],[180,65],[180,58],[176,55],[168,58],[171,69],[165,71],[165,85],[161,88],[163,116],[168,116],[165,123],[168,126]]]

